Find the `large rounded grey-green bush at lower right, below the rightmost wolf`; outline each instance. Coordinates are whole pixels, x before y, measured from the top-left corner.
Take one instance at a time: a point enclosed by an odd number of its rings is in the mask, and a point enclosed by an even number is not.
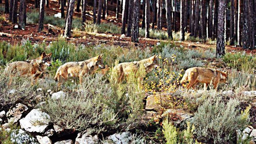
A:
[[[227,103],[220,97],[206,100],[193,117],[193,124],[198,139],[225,143],[234,139],[237,129],[244,129],[249,124],[249,109],[240,114],[239,101],[230,99]]]

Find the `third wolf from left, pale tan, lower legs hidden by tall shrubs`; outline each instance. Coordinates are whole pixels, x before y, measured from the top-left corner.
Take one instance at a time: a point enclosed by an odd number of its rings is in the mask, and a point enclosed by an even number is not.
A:
[[[156,69],[158,67],[157,56],[154,55],[141,61],[119,63],[113,68],[113,72],[117,72],[117,82],[122,82],[131,72],[136,73],[141,66],[145,68],[146,73],[151,72],[154,68]]]

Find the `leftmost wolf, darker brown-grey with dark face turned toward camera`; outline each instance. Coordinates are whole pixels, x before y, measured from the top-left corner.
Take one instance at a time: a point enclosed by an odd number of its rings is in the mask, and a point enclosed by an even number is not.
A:
[[[36,84],[39,76],[45,72],[48,66],[51,66],[51,54],[43,52],[36,59],[10,63],[5,69],[5,73],[11,76],[9,85],[13,76],[29,76],[31,77],[31,85]]]

